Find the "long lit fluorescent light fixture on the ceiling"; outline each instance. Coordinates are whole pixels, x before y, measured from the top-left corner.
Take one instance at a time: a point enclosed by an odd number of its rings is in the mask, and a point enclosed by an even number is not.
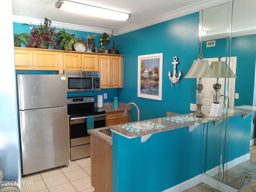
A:
[[[120,20],[126,21],[130,18],[130,14],[123,13],[119,11],[114,11],[110,9],[100,8],[96,6],[90,6],[78,2],[73,2],[69,0],[59,0],[55,4],[56,8],[60,8],[62,10],[75,12],[78,14],[85,14],[95,17],[101,17],[106,19]]]

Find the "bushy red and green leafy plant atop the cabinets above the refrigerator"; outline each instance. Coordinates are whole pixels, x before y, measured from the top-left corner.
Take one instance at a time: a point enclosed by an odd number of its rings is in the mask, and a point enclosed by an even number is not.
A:
[[[28,47],[36,47],[36,48],[45,48],[48,49],[48,46],[52,46],[54,49],[56,48],[57,42],[55,41],[56,37],[56,28],[51,27],[51,20],[47,18],[44,19],[44,25],[42,23],[36,26],[32,26],[31,29],[31,38],[28,43]]]

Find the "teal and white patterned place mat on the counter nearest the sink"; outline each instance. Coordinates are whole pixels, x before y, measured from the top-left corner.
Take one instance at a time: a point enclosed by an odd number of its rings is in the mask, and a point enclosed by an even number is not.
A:
[[[166,127],[157,123],[153,123],[150,121],[145,121],[145,122],[139,122],[139,123],[131,123],[131,124],[126,124],[126,125],[120,125],[121,128],[124,128],[128,131],[131,131],[133,133],[136,132],[141,132],[141,131],[146,131],[146,130],[151,130],[151,129],[157,129],[157,128],[162,128]]]

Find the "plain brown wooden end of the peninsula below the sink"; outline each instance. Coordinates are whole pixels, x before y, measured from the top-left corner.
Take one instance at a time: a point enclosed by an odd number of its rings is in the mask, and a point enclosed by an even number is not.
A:
[[[112,145],[91,135],[91,184],[95,192],[112,192]]]

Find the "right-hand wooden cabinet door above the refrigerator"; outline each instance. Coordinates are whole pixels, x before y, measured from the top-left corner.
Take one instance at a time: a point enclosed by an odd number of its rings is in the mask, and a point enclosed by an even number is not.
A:
[[[59,70],[58,52],[34,50],[34,70]]]

